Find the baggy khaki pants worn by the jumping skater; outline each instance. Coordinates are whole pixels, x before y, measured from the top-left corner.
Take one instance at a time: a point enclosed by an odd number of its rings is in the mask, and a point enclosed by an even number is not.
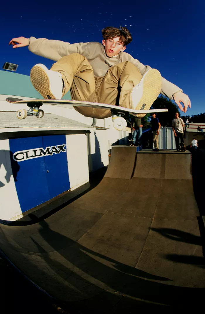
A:
[[[131,91],[139,84],[142,75],[138,68],[128,61],[119,63],[103,77],[94,77],[93,69],[85,57],[72,53],[54,63],[52,71],[62,74],[64,89],[62,97],[70,90],[72,100],[100,102],[133,108]],[[107,118],[110,110],[75,107],[77,111],[92,118]]]

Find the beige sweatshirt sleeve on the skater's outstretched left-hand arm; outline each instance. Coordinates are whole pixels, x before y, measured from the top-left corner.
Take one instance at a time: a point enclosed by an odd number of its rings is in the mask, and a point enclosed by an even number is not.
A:
[[[28,49],[38,56],[58,61],[71,53],[84,54],[87,44],[83,42],[70,44],[59,40],[30,37]]]

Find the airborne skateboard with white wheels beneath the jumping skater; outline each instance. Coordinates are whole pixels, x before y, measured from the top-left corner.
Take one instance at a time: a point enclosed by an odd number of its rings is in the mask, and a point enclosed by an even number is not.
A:
[[[20,109],[17,111],[17,117],[19,119],[25,119],[27,116],[36,116],[37,118],[42,118],[44,115],[43,110],[39,109],[43,104],[55,105],[65,108],[72,108],[73,106],[78,107],[93,107],[100,109],[109,109],[112,114],[113,126],[118,131],[123,131],[127,126],[126,118],[129,115],[136,116],[140,113],[155,113],[155,112],[167,112],[168,109],[149,109],[149,110],[134,110],[129,108],[124,108],[120,106],[113,106],[108,104],[100,104],[90,101],[79,101],[79,100],[57,100],[57,99],[32,99],[23,100],[19,98],[8,97],[6,100],[12,104],[27,104],[29,110]]]

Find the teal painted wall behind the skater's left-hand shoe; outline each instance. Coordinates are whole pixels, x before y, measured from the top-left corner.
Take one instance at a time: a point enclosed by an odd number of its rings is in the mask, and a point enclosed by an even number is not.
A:
[[[0,71],[0,94],[43,98],[31,84],[30,76],[8,71]],[[71,99],[70,92],[62,99]]]

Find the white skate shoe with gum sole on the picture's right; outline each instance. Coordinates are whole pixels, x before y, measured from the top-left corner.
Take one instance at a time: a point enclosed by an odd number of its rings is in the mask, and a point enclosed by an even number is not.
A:
[[[148,110],[157,99],[162,89],[162,77],[158,70],[150,69],[142,77],[140,83],[132,89],[133,109]],[[137,114],[142,118],[146,114]]]

